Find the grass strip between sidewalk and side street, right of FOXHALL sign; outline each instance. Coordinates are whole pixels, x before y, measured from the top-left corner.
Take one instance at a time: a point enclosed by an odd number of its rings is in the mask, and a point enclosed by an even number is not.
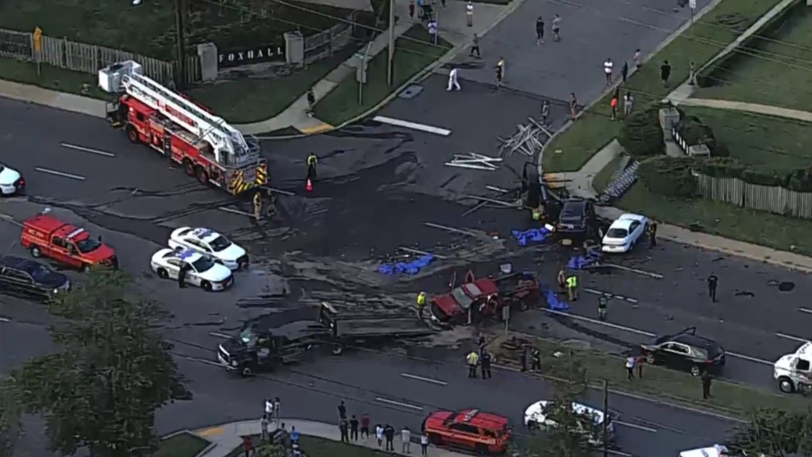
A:
[[[405,39],[404,37],[412,38]],[[430,66],[451,49],[451,45],[440,40],[438,45],[430,43],[429,33],[422,25],[416,24],[395,41],[394,84],[387,85],[387,51],[376,55],[367,67],[367,82],[363,88],[363,100],[358,103],[358,81],[353,72],[341,81],[326,97],[316,103],[315,115],[330,125],[340,125],[362,115],[382,102],[393,91],[400,89],[412,76]],[[419,41],[415,41],[419,40]]]

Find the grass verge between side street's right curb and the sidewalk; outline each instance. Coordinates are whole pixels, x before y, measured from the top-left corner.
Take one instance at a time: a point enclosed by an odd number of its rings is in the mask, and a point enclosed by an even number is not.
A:
[[[626,88],[636,93],[637,109],[664,98],[677,84],[688,79],[688,62],[696,67],[712,59],[736,37],[741,35],[758,18],[775,7],[780,0],[722,0],[713,11],[708,12],[676,37],[657,55],[646,63],[640,72],[629,77]],[[731,15],[741,18],[734,27],[721,26],[720,20]],[[659,79],[659,66],[663,60],[672,63],[672,87],[664,88]],[[545,172],[575,172],[598,150],[617,137],[620,123],[610,120],[609,95],[584,113],[566,132],[547,145],[546,150],[562,150],[563,154],[546,154],[542,158]],[[589,102],[584,100],[583,102]]]

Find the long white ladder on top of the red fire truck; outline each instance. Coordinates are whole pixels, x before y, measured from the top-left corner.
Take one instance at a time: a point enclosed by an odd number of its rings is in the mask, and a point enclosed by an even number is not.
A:
[[[239,130],[222,118],[175,94],[147,76],[130,73],[121,80],[127,94],[157,110],[175,124],[208,142],[214,157],[222,165],[240,165],[256,160],[259,144],[255,138],[246,141]]]

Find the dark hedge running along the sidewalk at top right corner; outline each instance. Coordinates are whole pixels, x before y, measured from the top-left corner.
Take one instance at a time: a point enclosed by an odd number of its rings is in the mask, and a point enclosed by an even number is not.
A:
[[[738,59],[749,58],[754,55],[758,47],[761,46],[762,41],[766,41],[765,37],[771,37],[779,28],[784,25],[784,21],[792,20],[797,16],[797,11],[801,8],[808,8],[806,0],[794,0],[787,7],[784,8],[779,14],[774,15],[770,20],[767,20],[758,30],[752,33],[749,37],[739,43],[733,50],[728,52],[719,59],[712,60],[711,63],[702,67],[697,72],[696,83],[699,87],[711,87],[712,85],[720,85],[728,82],[731,78],[730,68],[736,65]],[[742,30],[744,32],[744,30]]]

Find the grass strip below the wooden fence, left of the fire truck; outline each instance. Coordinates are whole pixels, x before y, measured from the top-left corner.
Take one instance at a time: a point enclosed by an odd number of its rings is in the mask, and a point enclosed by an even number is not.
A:
[[[82,86],[88,85],[89,97],[108,99],[110,94],[98,89],[95,75],[89,73],[71,72],[63,68],[51,67],[42,64],[40,74],[37,75],[37,64],[23,62],[18,59],[0,57],[0,79],[15,81],[23,84],[32,84],[69,94],[81,94]]]

